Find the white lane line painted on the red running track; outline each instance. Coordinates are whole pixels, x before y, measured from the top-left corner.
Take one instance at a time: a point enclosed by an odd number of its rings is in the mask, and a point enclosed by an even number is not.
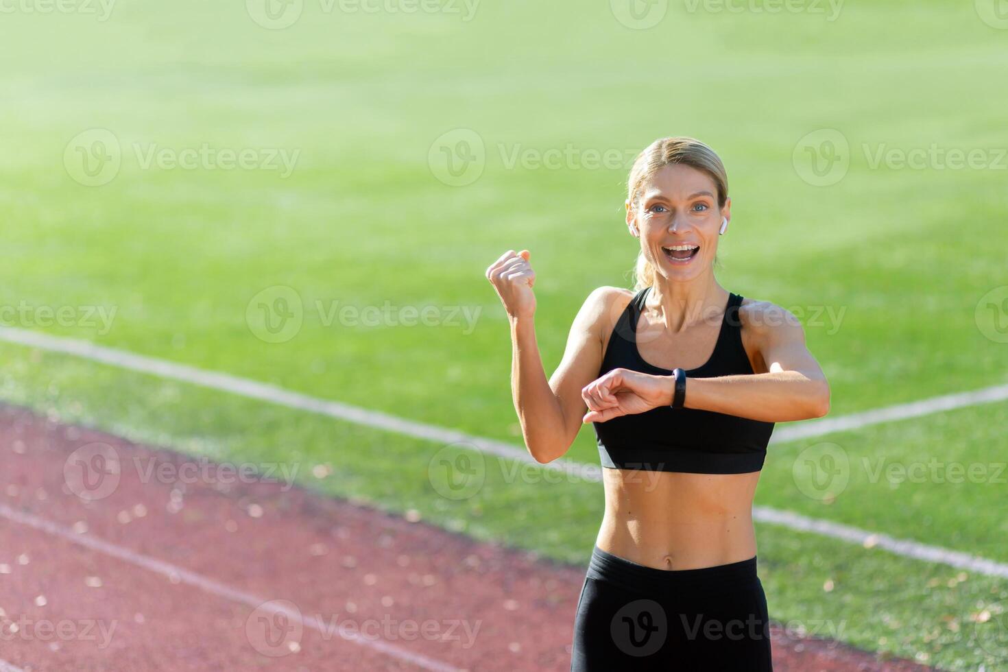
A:
[[[90,550],[128,562],[134,566],[148,569],[157,574],[162,574],[167,576],[172,581],[186,583],[200,588],[205,592],[209,592],[212,595],[246,604],[253,610],[263,609],[273,613],[284,614],[291,621],[298,622],[304,628],[310,628],[311,630],[322,633],[324,636],[329,637],[333,634],[332,628],[327,628],[326,625],[313,617],[302,617],[297,611],[286,609],[282,604],[276,604],[272,600],[256,596],[242,590],[237,590],[225,585],[224,583],[215,581],[212,578],[207,578],[202,574],[198,574],[187,569],[182,569],[181,567],[177,567],[169,562],[164,562],[163,560],[158,560],[148,555],[135,553],[128,548],[104,541],[98,537],[88,534],[78,534],[70,528],[56,525],[55,523],[32,514],[15,511],[4,504],[0,504],[0,517],[6,518],[14,523],[27,525],[28,527],[45,532],[46,534],[50,534],[54,537],[66,539],[67,541],[84,546]],[[380,651],[381,653],[398,658],[399,660],[407,663],[418,665],[424,670],[434,670],[436,672],[461,672],[459,668],[431,658],[427,658],[426,656],[415,654],[410,651],[406,651],[405,649],[400,649],[399,647],[393,646],[381,640],[370,639],[364,637],[363,635],[354,633],[344,633],[343,630],[344,629],[341,628],[336,632],[340,638],[347,640],[348,642],[353,642],[355,644],[360,644],[361,646]],[[16,671],[17,668],[13,668],[13,670]],[[0,672],[7,672],[7,670],[0,666]]]

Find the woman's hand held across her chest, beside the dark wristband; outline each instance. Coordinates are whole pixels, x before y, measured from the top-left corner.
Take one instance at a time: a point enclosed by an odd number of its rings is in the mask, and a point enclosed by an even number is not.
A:
[[[582,422],[605,422],[672,403],[674,379],[629,369],[613,369],[581,391],[588,404]]]

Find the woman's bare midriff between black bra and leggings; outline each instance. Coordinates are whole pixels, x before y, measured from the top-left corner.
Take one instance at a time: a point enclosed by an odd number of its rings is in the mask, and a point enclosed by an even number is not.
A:
[[[759,472],[680,474],[603,468],[606,514],[596,545],[658,569],[698,569],[756,555]]]

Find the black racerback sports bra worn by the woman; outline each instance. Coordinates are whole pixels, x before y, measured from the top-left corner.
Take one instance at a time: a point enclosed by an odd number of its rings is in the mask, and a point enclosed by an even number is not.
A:
[[[672,375],[670,369],[645,362],[637,350],[637,321],[650,289],[645,287],[637,292],[620,315],[609,338],[599,376],[613,369]],[[742,297],[730,294],[714,354],[703,366],[687,370],[687,378],[754,373],[742,346],[740,305]],[[687,398],[688,395],[687,384]],[[609,468],[748,474],[763,468],[774,423],[695,408],[659,407],[593,424],[602,465]]]

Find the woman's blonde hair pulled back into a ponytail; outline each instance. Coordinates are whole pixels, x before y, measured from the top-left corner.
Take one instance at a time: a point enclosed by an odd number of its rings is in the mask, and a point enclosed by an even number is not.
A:
[[[721,158],[700,140],[675,137],[659,138],[637,155],[627,180],[627,199],[631,208],[637,207],[644,184],[666,165],[687,165],[709,174],[718,187],[718,207],[725,207],[728,199],[728,173]],[[717,258],[715,263],[718,263]],[[657,273],[644,256],[643,250],[638,252],[637,264],[634,266],[634,290],[650,287],[656,279]]]

